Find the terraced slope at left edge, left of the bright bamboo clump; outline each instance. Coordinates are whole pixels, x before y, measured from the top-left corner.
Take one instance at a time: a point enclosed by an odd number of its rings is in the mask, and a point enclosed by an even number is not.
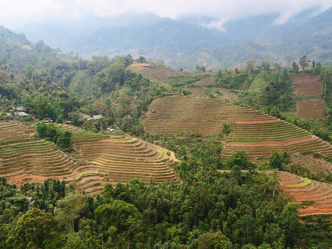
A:
[[[8,178],[71,175],[75,162],[48,141],[35,136],[33,125],[0,122],[0,175]]]

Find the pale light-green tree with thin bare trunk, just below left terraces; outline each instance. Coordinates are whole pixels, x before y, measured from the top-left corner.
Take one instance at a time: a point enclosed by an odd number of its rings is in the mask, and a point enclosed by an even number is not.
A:
[[[54,213],[63,223],[69,222],[70,228],[75,232],[74,219],[78,217],[85,205],[86,196],[79,192],[69,192],[64,198],[56,202]]]

